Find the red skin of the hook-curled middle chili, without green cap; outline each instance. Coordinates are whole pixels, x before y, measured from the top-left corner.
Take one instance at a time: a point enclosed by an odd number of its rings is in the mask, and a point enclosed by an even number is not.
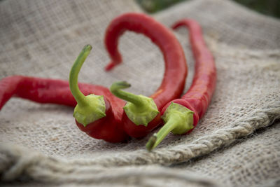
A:
[[[158,110],[161,111],[167,102],[180,97],[183,92],[188,72],[183,48],[172,31],[160,22],[145,14],[125,13],[115,18],[106,29],[105,46],[111,57],[111,63],[107,65],[106,70],[122,62],[118,51],[118,39],[125,31],[144,34],[160,48],[164,55],[164,78],[155,94],[151,95]],[[123,128],[131,137],[144,137],[160,123],[162,123],[160,113],[148,123],[147,127],[135,125],[125,112],[123,114]]]

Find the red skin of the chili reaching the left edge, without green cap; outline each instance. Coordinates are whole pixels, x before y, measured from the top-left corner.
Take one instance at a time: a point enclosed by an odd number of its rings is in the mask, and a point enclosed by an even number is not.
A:
[[[111,94],[109,89],[100,85],[79,83],[80,91],[84,95],[104,95],[106,102],[106,117],[101,118],[86,127],[77,123],[80,130],[90,137],[104,139],[110,142],[126,141],[127,134],[122,129],[123,106],[125,102]],[[20,97],[38,103],[62,104],[76,106],[69,89],[68,81],[49,78],[35,78],[28,76],[8,76],[0,80],[0,109],[10,99]]]

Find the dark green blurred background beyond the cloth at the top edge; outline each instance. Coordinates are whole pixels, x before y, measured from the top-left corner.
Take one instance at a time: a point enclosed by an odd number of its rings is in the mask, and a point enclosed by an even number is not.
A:
[[[188,0],[136,0],[147,13],[156,13],[181,1]],[[205,0],[207,1],[207,0]],[[232,0],[259,13],[280,18],[280,0]]]

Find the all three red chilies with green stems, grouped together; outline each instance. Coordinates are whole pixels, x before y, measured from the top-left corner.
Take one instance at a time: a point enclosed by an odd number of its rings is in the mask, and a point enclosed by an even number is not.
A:
[[[160,48],[165,60],[164,78],[153,95],[146,97],[125,92],[123,89],[130,87],[125,81],[113,83],[110,90],[101,85],[78,83],[80,68],[92,50],[92,46],[87,45],[74,62],[69,81],[27,76],[1,79],[0,109],[10,97],[75,106],[73,116],[78,128],[90,137],[110,142],[144,137],[165,122],[146,145],[151,151],[169,132],[186,134],[193,130],[207,111],[216,85],[214,57],[204,43],[200,25],[186,19],[173,28],[180,26],[188,27],[195,55],[195,77],[183,97],[188,67],[183,48],[171,29],[148,15],[125,13],[113,19],[106,29],[104,41],[111,57],[106,71],[122,62],[118,39],[125,31],[144,34]]]

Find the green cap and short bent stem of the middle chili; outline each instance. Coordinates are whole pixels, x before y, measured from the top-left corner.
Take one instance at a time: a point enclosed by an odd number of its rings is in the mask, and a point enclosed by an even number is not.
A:
[[[111,92],[116,97],[124,99],[127,104],[123,107],[126,115],[135,125],[147,126],[160,113],[158,106],[152,98],[144,95],[134,95],[130,92],[125,92],[121,89],[129,88],[130,84],[125,81],[113,83]]]

